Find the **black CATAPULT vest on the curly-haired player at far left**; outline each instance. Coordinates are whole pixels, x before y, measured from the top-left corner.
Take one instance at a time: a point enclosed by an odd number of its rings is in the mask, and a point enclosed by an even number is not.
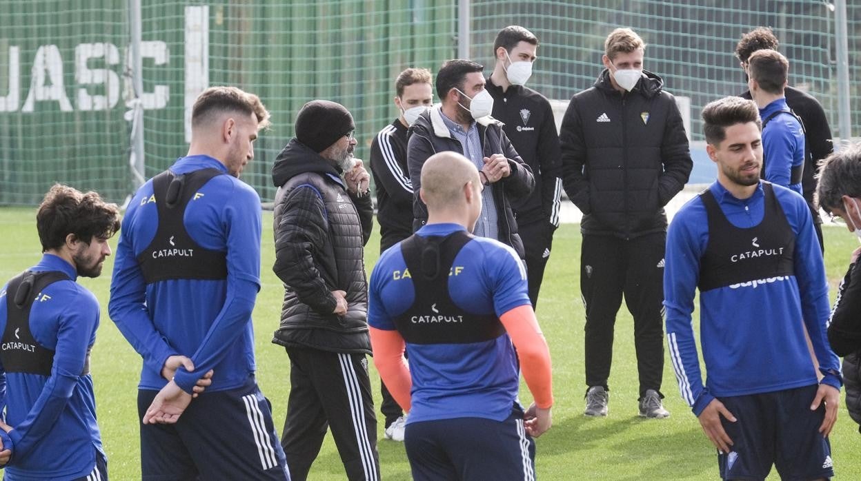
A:
[[[0,361],[7,373],[50,376],[54,351],[36,342],[30,330],[30,310],[46,287],[57,281],[70,281],[59,271],[31,272],[18,275],[6,287],[6,329],[0,343]],[[81,375],[90,373],[90,349]]]

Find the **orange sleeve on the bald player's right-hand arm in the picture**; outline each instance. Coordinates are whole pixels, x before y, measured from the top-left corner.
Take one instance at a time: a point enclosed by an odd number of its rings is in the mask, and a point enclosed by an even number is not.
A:
[[[538,327],[535,311],[532,311],[531,305],[520,305],[505,312],[499,320],[517,348],[520,370],[535,398],[536,406],[548,409],[553,405],[553,370],[550,349]]]

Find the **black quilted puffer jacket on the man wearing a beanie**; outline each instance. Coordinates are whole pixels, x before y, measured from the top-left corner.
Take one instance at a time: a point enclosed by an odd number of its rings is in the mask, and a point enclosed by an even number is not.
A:
[[[370,195],[345,188],[332,164],[296,139],[276,157],[272,180],[276,261],[284,282],[281,326],[272,342],[339,353],[371,353],[364,244],[373,226]],[[331,291],[347,293],[332,314]]]

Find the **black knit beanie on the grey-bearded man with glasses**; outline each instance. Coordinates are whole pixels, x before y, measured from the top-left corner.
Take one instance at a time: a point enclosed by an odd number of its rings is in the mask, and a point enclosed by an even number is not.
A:
[[[355,129],[353,116],[343,105],[327,100],[306,103],[296,115],[296,140],[319,153]]]

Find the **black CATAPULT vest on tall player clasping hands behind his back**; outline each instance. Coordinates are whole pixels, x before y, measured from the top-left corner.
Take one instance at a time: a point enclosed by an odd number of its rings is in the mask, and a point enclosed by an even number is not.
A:
[[[174,176],[165,170],[152,178],[152,195],[158,208],[158,229],[152,242],[138,256],[147,284],[169,279],[219,280],[227,277],[226,252],[204,249],[185,230],[183,217],[197,190],[218,169],[201,169]]]

